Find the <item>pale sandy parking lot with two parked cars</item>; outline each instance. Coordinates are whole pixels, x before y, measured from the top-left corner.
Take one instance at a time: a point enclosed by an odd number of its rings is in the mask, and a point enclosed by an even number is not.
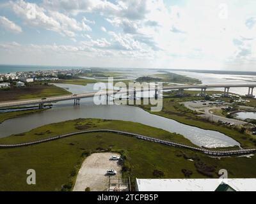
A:
[[[109,177],[106,175],[108,169],[116,170],[115,176],[121,177],[121,166],[118,166],[117,161],[111,161],[111,156],[120,156],[113,152],[94,153],[87,157],[77,175],[76,184],[73,191],[84,191],[86,187],[90,187],[91,191],[106,191],[108,190]]]

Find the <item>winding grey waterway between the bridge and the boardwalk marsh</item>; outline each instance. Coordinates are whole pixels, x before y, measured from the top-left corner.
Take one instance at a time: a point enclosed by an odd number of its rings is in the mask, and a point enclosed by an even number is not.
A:
[[[66,87],[68,88],[68,91],[74,94],[93,91],[92,84],[86,86],[58,84],[58,86]],[[204,147],[230,147],[239,145],[236,140],[233,140],[218,131],[210,131],[181,124],[175,120],[166,119],[145,112],[141,108],[134,106],[97,106],[93,103],[92,98],[81,99],[80,106],[74,106],[74,101],[61,101],[55,103],[50,110],[6,120],[0,124],[0,137],[3,138],[13,134],[24,133],[31,129],[44,126],[45,124],[77,118],[98,118],[140,122],[141,124],[161,128],[171,133],[179,133],[185,138],[188,138],[192,143]],[[150,133],[147,135],[150,135]]]

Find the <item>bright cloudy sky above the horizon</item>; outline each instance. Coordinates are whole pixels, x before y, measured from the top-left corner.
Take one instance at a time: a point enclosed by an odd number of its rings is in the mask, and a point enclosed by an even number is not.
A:
[[[256,71],[256,1],[1,0],[0,64]]]

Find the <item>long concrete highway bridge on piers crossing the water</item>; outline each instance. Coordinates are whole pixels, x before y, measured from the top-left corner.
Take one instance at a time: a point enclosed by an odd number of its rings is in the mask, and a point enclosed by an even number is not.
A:
[[[216,85],[176,85],[176,86],[168,86],[163,87],[163,90],[179,90],[184,91],[185,89],[201,89],[201,95],[204,96],[206,89],[214,89],[214,88],[224,88],[224,96],[228,96],[229,89],[232,87],[248,87],[248,94],[247,97],[253,98],[253,89],[256,87],[256,84],[216,84]],[[74,100],[74,105],[79,105],[80,99],[82,98],[90,98],[94,96],[106,96],[107,100],[108,97],[120,93],[129,93],[134,92],[134,97],[136,97],[136,92],[143,92],[143,91],[155,91],[155,96],[157,96],[157,85],[156,87],[148,87],[148,89],[122,89],[119,91],[99,91],[99,92],[87,92],[84,94],[70,94],[65,96],[56,96],[50,97],[45,99],[26,99],[26,100],[17,100],[17,101],[7,101],[0,103],[0,108],[12,108],[15,106],[27,106],[27,105],[39,105],[39,108],[44,108],[45,103],[56,103],[59,101],[68,101]]]

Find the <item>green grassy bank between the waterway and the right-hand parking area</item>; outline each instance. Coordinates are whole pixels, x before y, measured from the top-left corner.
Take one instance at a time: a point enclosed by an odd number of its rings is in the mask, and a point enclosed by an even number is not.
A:
[[[212,93],[213,91],[211,91]],[[183,98],[175,98],[175,92],[164,92],[163,98],[163,110],[161,112],[150,112],[150,105],[140,105],[141,108],[147,110],[150,113],[160,115],[169,119],[177,120],[183,124],[188,124],[190,126],[196,126],[198,128],[210,129],[214,131],[219,131],[225,135],[234,138],[237,142],[241,143],[242,147],[253,147],[256,146],[256,137],[252,135],[248,135],[246,133],[239,132],[239,129],[236,128],[227,128],[221,124],[215,122],[209,122],[207,119],[204,119],[198,115],[193,110],[189,110],[184,105],[180,105],[180,102],[184,101],[194,101],[198,98],[194,96],[195,91],[190,92],[186,91],[188,96]],[[198,93],[198,92],[197,92]],[[189,96],[190,94],[190,96]]]

